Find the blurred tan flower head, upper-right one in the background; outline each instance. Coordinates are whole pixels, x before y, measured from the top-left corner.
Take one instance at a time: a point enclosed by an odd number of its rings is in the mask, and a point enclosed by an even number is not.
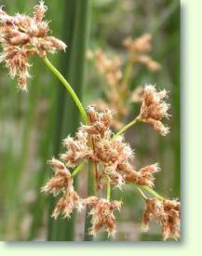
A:
[[[146,52],[152,49],[151,39],[151,34],[142,34],[135,40],[128,37],[124,40],[124,46],[128,48],[131,61],[140,62],[150,71],[155,72],[161,68],[160,64],[152,60],[150,56],[145,55]]]

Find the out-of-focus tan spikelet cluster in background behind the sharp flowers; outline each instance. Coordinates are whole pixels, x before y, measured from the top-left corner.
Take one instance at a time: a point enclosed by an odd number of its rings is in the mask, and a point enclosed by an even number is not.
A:
[[[108,86],[105,91],[106,101],[97,100],[95,103],[100,110],[107,107],[116,113],[112,123],[116,129],[123,126],[123,119],[129,113],[129,103],[141,101],[142,88],[130,91],[128,87],[133,66],[141,63],[151,72],[161,68],[158,62],[147,55],[152,50],[151,40],[151,34],[143,34],[136,40],[131,38],[124,40],[123,45],[128,49],[128,64],[125,71],[120,57],[115,56],[114,59],[110,59],[100,48],[95,51],[88,50],[88,59],[95,61],[99,74],[104,76]]]

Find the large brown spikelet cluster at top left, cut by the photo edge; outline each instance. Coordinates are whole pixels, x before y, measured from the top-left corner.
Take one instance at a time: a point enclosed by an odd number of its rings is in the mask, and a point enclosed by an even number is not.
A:
[[[66,48],[61,40],[48,36],[48,22],[43,20],[46,11],[43,1],[34,7],[33,17],[24,14],[9,16],[0,8],[0,62],[5,63],[12,78],[17,77],[22,90],[27,89],[31,56],[44,58],[47,52],[55,53]]]

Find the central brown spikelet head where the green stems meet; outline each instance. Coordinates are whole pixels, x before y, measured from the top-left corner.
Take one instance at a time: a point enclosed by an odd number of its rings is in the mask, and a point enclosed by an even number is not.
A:
[[[64,140],[67,150],[61,155],[68,168],[76,167],[84,160],[93,160],[100,180],[98,185],[101,187],[100,182],[105,183],[106,175],[112,185],[121,187],[125,182],[125,167],[133,159],[133,151],[124,141],[124,137],[113,139],[110,129],[112,119],[110,110],[99,113],[95,107],[89,106],[88,125],[81,126],[74,139],[68,137]]]

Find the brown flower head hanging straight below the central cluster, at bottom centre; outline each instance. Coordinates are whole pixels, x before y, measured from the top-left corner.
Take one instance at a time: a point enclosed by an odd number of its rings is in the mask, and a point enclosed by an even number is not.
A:
[[[91,228],[89,234],[96,236],[98,232],[104,228],[108,236],[114,236],[116,231],[114,210],[120,210],[122,202],[108,201],[104,198],[90,196],[85,203],[91,209],[89,214],[92,215]]]

